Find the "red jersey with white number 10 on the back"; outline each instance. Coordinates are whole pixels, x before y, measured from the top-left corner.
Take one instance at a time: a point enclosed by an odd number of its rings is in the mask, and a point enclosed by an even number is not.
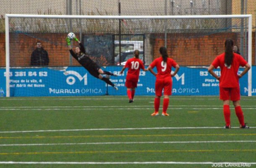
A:
[[[136,76],[139,79],[139,70],[145,69],[142,60],[139,58],[129,58],[125,64],[125,68],[128,68],[127,75]]]

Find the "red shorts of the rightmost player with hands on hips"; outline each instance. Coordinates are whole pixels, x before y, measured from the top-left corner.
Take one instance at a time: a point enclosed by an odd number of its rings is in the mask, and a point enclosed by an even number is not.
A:
[[[220,99],[240,100],[240,87],[220,87]]]

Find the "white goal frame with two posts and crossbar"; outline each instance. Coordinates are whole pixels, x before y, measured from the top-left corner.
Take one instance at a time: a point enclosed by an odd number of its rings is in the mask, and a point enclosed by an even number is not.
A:
[[[5,14],[5,50],[6,50],[6,97],[10,96],[10,58],[9,58],[9,18],[51,18],[51,19],[228,19],[240,18],[248,19],[248,62],[252,65],[252,15],[18,15],[18,14]],[[252,69],[248,73],[248,96],[252,93]]]

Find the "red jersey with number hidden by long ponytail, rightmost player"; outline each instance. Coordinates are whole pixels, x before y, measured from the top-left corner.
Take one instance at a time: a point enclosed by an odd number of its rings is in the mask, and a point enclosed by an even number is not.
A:
[[[220,54],[212,62],[214,68],[220,67],[220,87],[239,87],[238,70],[245,67],[247,61],[243,56],[234,53],[232,64],[227,67],[225,64],[225,52]]]

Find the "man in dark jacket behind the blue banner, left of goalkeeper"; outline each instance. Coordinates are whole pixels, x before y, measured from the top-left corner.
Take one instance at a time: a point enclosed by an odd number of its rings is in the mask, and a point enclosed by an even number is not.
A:
[[[47,66],[49,65],[48,52],[42,48],[41,42],[36,42],[36,50],[32,52],[31,63],[32,66]]]

